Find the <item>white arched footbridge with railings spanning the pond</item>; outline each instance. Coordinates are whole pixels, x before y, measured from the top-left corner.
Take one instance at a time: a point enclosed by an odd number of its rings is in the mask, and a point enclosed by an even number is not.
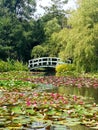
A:
[[[28,68],[30,70],[36,68],[52,67],[55,68],[58,64],[64,64],[60,58],[57,57],[41,57],[29,60]]]

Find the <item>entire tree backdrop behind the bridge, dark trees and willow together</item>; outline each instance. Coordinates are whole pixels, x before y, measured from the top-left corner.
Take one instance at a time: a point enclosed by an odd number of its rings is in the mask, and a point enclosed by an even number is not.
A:
[[[98,0],[77,0],[76,10],[65,11],[67,2],[51,0],[36,19],[35,0],[1,0],[0,59],[57,56],[78,71],[98,70]]]

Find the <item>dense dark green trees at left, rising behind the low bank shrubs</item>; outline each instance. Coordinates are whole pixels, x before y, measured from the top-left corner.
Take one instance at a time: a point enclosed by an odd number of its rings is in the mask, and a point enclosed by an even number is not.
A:
[[[4,5],[0,3],[0,59],[7,60],[10,57],[10,59],[27,62],[31,58],[32,48],[43,41],[42,22],[34,18],[32,20],[24,20],[25,18],[23,18],[21,21],[14,14],[14,9],[11,12],[10,6],[12,5],[9,4],[18,1],[8,2],[5,0],[4,2],[6,3]]]

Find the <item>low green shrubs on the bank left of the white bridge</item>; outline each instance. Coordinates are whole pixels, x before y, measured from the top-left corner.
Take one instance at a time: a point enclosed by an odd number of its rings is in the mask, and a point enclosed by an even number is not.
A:
[[[27,65],[24,65],[22,62],[8,60],[7,62],[0,60],[0,72],[7,71],[24,71],[28,70]]]

